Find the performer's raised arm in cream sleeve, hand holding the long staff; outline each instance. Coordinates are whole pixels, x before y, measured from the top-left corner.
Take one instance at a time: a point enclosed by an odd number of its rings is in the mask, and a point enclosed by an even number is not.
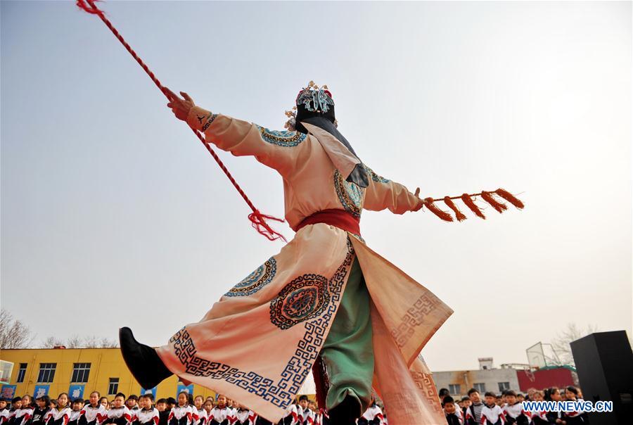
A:
[[[215,114],[196,106],[186,93],[181,94],[184,99],[172,93],[167,106],[172,108],[177,118],[204,132],[207,141],[235,156],[255,156],[260,163],[281,175],[293,170],[302,151],[301,145],[307,142],[306,134],[271,131],[247,121]]]

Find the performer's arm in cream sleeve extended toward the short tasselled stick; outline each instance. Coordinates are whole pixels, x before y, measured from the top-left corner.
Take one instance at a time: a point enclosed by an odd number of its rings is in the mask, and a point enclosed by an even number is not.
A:
[[[411,194],[404,185],[377,175],[369,167],[366,169],[371,179],[365,191],[364,209],[371,211],[388,209],[395,214],[404,214],[407,211],[417,211],[422,208],[423,202],[418,198],[420,189],[416,189],[416,193]]]

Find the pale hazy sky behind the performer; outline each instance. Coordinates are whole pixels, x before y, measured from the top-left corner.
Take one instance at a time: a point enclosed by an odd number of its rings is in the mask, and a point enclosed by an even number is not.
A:
[[[568,323],[632,331],[631,2],[106,1],[159,79],[283,129],[307,82],[378,174],[442,198],[502,187],[480,220],[365,212],[373,250],[454,314],[432,370],[525,363]],[[163,345],[283,243],[95,16],[1,1],[1,307],[36,334]],[[281,177],[220,152],[283,216]],[[461,205],[463,206],[463,205]],[[293,232],[286,224],[283,234]]]

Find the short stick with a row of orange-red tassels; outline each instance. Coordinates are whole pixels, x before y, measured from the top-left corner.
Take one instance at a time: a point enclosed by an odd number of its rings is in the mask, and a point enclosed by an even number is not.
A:
[[[437,205],[434,204],[434,202],[436,201],[444,201],[447,207],[450,208],[455,214],[457,221],[461,222],[463,220],[466,220],[467,217],[466,215],[463,215],[463,213],[461,213],[459,208],[457,208],[457,205],[455,205],[455,203],[453,202],[454,199],[461,199],[461,201],[464,203],[464,205],[468,207],[469,210],[477,215],[477,217],[485,220],[486,216],[481,212],[477,204],[475,204],[475,198],[477,198],[477,196],[481,196],[481,198],[488,204],[490,204],[492,208],[494,208],[494,210],[497,210],[498,213],[503,213],[505,210],[508,209],[508,205],[497,201],[497,199],[494,198],[493,194],[504,198],[504,200],[508,201],[520,210],[523,209],[523,207],[525,206],[523,205],[523,202],[519,201],[518,198],[516,198],[513,194],[511,194],[509,191],[506,191],[505,189],[497,189],[496,191],[481,191],[480,194],[473,195],[463,194],[461,196],[445,196],[441,199],[425,198],[423,202],[424,206],[426,206],[426,208],[428,208],[431,213],[437,215],[437,217],[440,217],[440,219],[444,220],[445,222],[452,222],[453,216],[446,211],[440,210],[440,208],[437,208]]]

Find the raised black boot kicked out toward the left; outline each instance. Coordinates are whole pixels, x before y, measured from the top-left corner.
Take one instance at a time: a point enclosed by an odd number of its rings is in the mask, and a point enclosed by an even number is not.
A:
[[[160,360],[156,350],[134,339],[132,329],[119,329],[119,341],[123,360],[141,387],[154,388],[160,381],[173,375]]]

